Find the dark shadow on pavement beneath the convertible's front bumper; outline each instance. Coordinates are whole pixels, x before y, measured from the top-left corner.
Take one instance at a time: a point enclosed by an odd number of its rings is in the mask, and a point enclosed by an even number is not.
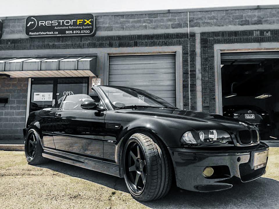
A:
[[[279,181],[259,178],[219,192],[172,188],[162,200],[143,203],[150,208],[279,208]]]

